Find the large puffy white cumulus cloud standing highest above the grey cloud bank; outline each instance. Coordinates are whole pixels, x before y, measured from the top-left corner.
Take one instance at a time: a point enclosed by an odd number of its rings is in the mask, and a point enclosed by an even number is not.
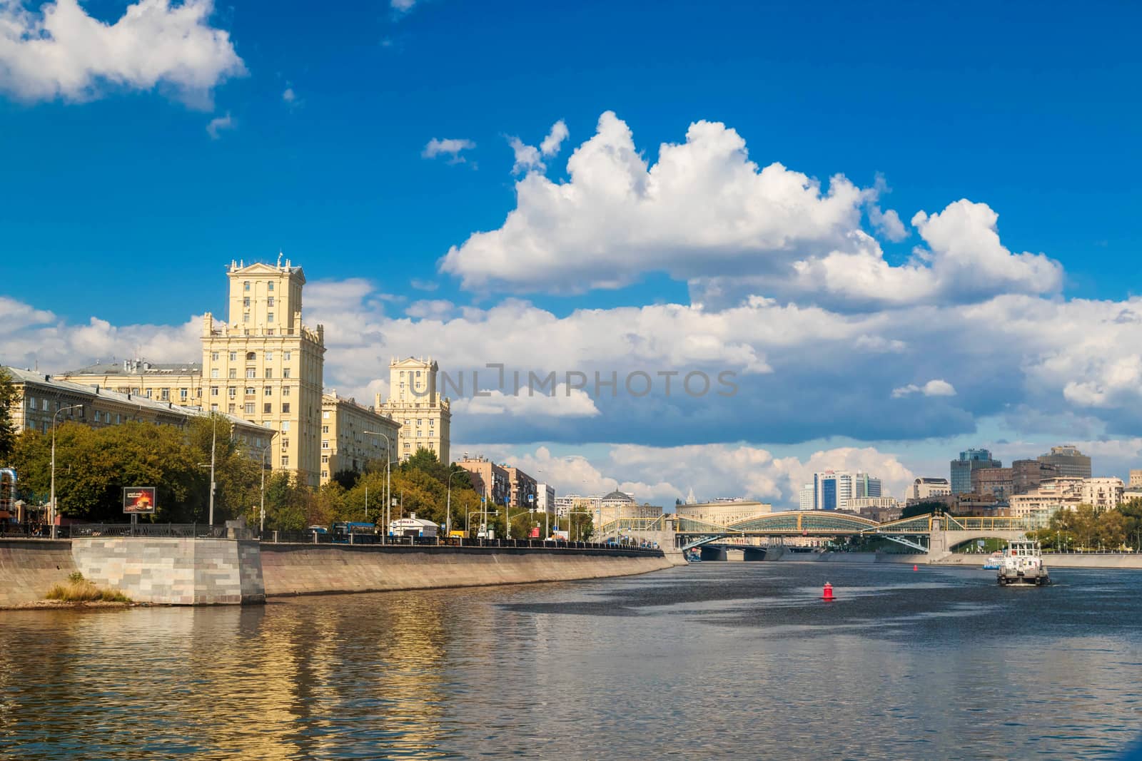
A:
[[[510,143],[514,171],[524,172],[516,208],[440,261],[466,289],[577,293],[665,272],[707,308],[765,294],[851,309],[1054,293],[1062,284],[1057,262],[1012,253],[997,214],[966,200],[916,214],[927,248],[892,266],[861,228],[870,207],[883,235],[906,233],[898,213],[876,205],[883,180],[862,189],[837,175],[826,189],[779,163],[759,168],[725,124],[694,122],[685,143],[661,145],[651,164],[627,124],[604,113],[562,183],[542,175],[538,148]]]

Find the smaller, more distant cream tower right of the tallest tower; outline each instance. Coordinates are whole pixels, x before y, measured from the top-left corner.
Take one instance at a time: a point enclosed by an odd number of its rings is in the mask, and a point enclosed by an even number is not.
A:
[[[449,437],[452,411],[448,397],[441,396],[436,375],[440,366],[427,359],[392,359],[388,363],[388,399],[377,395],[376,408],[401,424],[397,454],[408,460],[417,450],[428,450],[449,464]]]

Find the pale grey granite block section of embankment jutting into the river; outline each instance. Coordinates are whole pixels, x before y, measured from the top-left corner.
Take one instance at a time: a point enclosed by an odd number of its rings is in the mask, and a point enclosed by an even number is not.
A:
[[[73,539],[75,566],[99,586],[136,602],[238,605],[262,602],[257,541],[220,539]]]

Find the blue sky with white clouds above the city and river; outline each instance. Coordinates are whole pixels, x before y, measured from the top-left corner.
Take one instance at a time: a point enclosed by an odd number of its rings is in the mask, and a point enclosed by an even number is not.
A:
[[[457,415],[461,445],[568,483],[782,501],[812,464],[902,484],[968,445],[1010,460],[1073,439],[1125,475],[1142,450],[1129,3],[139,7],[152,26],[121,23],[123,2],[0,10],[25,30],[0,48],[3,362],[193,357],[223,266],[282,250],[332,333],[327,384],[362,397],[394,353],[745,379],[734,400]],[[606,200],[624,130],[651,168],[682,146],[669,202]],[[513,171],[514,137],[541,171]],[[473,147],[426,157],[433,139]],[[750,189],[745,152],[814,197],[774,221],[793,196]],[[838,175],[853,197],[833,208]],[[986,207],[941,213],[960,199]],[[940,224],[912,225],[922,210]]]

